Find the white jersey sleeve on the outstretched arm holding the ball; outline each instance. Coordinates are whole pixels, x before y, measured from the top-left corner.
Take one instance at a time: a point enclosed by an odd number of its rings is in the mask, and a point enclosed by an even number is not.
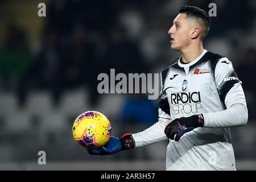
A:
[[[163,88],[162,84],[162,75],[161,75],[161,88]],[[142,147],[148,144],[152,144],[155,142],[159,142],[161,140],[168,139],[164,134],[164,129],[168,121],[170,121],[170,106],[168,104],[168,100],[166,97],[166,93],[161,90],[160,95],[160,103],[158,109],[158,122],[149,127],[148,129],[133,134],[133,138],[135,140],[135,147]]]

